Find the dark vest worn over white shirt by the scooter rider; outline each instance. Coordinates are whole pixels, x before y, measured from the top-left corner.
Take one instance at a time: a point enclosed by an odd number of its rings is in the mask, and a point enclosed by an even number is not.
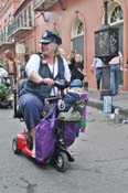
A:
[[[39,55],[40,56],[40,55]],[[41,57],[41,56],[40,56]],[[51,73],[49,66],[46,64],[42,63],[42,58],[40,61],[40,68],[39,74],[43,78],[52,78],[52,79],[64,79],[64,63],[63,58],[61,56],[57,56],[57,64],[58,64],[58,73],[55,78],[53,78],[53,74]],[[36,95],[39,98],[44,99],[46,97],[50,97],[51,90],[53,86],[49,86],[46,84],[36,84],[32,81],[28,79],[24,92],[23,93],[32,93]]]

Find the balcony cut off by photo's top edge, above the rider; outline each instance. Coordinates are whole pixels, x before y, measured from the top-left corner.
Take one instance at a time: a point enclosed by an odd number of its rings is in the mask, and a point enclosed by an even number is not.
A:
[[[34,11],[46,11],[58,0],[35,0]]]

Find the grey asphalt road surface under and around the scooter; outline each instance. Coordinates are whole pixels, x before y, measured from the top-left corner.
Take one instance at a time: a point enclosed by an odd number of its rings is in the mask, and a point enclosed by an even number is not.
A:
[[[75,162],[65,173],[12,152],[24,124],[0,109],[0,193],[128,193],[128,125],[87,107],[87,129],[72,146]]]

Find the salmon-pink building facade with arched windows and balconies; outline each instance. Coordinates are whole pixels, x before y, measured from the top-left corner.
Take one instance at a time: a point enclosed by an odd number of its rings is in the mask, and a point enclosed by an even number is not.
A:
[[[0,11],[0,60],[11,49],[21,62],[40,50],[39,40],[45,30],[58,33],[62,47],[70,56],[76,50],[84,57],[89,87],[95,87],[90,72],[95,56],[95,31],[104,23],[105,0],[4,0]],[[128,1],[108,0],[108,24],[119,32],[119,51],[124,55],[120,88],[128,90]]]

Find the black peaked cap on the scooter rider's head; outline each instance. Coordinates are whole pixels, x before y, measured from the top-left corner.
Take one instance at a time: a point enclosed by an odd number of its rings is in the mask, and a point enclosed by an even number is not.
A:
[[[40,40],[40,43],[46,44],[46,43],[51,43],[51,42],[53,42],[57,45],[61,45],[62,44],[62,39],[56,33],[46,30],[43,33],[42,39]]]

